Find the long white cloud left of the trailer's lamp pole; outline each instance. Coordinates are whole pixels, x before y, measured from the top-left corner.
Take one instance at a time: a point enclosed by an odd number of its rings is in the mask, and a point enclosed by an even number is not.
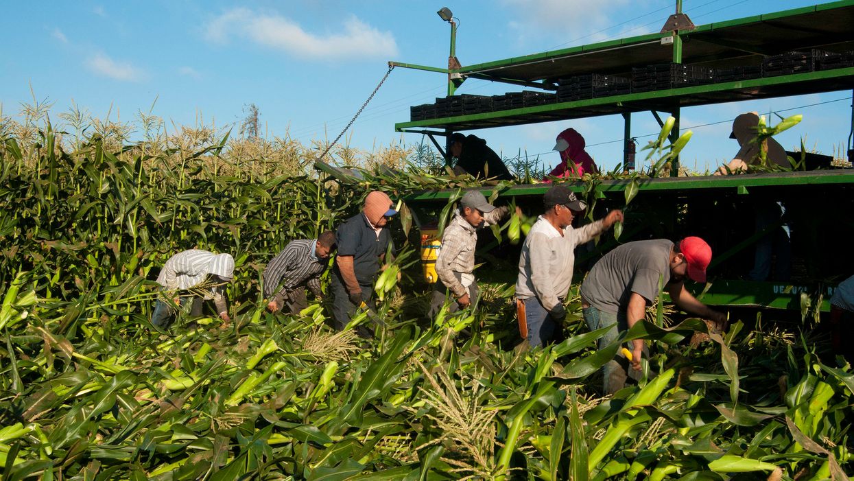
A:
[[[249,9],[231,9],[208,23],[206,38],[225,43],[232,36],[282,50],[292,56],[322,59],[386,58],[397,55],[391,32],[381,32],[355,16],[335,32],[307,32],[282,15],[267,15]]]

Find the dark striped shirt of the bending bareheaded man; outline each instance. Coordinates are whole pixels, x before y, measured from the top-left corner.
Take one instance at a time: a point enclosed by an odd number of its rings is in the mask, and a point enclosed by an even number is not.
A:
[[[317,239],[290,241],[284,250],[267,264],[264,269],[264,296],[272,299],[278,286],[283,295],[302,284],[316,295],[320,295],[320,274],[328,263],[317,256]]]

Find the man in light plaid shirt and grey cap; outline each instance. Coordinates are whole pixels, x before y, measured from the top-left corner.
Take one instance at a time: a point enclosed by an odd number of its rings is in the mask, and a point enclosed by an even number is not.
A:
[[[517,214],[522,214],[519,208]],[[442,308],[446,289],[456,299],[449,308],[452,313],[459,308],[469,307],[477,299],[477,280],[474,275],[477,231],[497,224],[509,215],[509,208],[496,208],[479,191],[465,192],[459,202],[459,209],[453,213],[453,219],[442,232],[442,249],[439,249],[436,257],[436,274],[442,283],[436,284],[436,290],[433,291],[430,317]]]

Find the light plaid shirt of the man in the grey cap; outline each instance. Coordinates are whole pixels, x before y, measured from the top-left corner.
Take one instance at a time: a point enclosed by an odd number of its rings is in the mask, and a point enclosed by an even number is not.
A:
[[[509,212],[510,209],[500,207],[483,214],[483,224],[480,228],[498,223]],[[469,224],[458,210],[442,233],[442,248],[436,257],[436,273],[454,296],[465,296],[467,292],[453,273],[471,274],[475,270],[476,244],[477,228]]]

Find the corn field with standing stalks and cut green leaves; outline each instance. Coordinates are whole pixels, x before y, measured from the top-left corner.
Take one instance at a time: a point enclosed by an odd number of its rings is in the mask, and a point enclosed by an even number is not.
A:
[[[263,149],[241,167],[223,138],[153,148],[103,135],[69,144],[50,126],[3,132],[4,480],[854,472],[854,374],[828,364],[809,329],[734,320],[721,334],[701,320],[663,322],[659,304],[622,340],[650,342],[643,380],[601,396],[599,369],[621,344],[594,348],[601,332],[584,326],[577,295],[565,340],[544,349],[513,349],[512,285],[483,285],[476,313],[424,319],[430,288],[405,204],[403,277],[384,286],[375,340],[332,331],[324,302],[267,313],[260,272],[290,240],[336,227],[371,189],[396,201],[447,187],[400,160],[411,151],[395,154],[403,172],[363,163],[355,189],[308,171],[304,152],[285,172]],[[149,323],[156,273],[190,248],[236,260],[229,329],[184,315],[168,331]]]

